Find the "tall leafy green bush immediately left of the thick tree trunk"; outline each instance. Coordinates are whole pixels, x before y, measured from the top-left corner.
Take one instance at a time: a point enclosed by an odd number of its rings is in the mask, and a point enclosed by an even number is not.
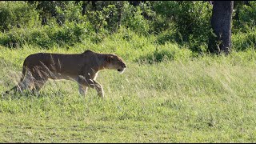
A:
[[[210,34],[211,7],[208,2],[155,2],[154,10],[166,19],[166,23],[174,22],[176,42],[186,42],[195,52],[203,42],[208,41]],[[166,34],[165,34],[166,35]],[[170,36],[172,37],[172,36]],[[166,39],[168,40],[168,39]],[[192,41],[192,42],[191,42]]]

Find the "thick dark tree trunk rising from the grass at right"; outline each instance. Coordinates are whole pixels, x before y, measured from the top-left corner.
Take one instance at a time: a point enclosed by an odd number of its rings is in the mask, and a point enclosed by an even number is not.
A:
[[[210,53],[230,54],[231,21],[234,1],[214,1],[211,26],[214,34],[210,35],[208,50]]]

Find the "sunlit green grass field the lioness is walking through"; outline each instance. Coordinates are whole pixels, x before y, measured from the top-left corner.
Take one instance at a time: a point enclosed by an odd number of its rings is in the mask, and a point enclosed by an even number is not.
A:
[[[150,64],[138,62],[151,58],[150,38],[118,37],[68,49],[0,47],[0,92],[18,82],[23,60],[37,52],[90,49],[116,53],[127,64],[123,74],[98,74],[105,99],[91,89],[82,97],[76,82],[53,80],[37,96],[1,98],[0,142],[256,142],[254,50],[193,57],[167,43],[158,48],[171,57]]]

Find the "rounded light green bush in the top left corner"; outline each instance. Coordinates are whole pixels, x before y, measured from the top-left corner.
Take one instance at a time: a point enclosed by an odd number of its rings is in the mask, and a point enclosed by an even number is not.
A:
[[[38,26],[38,11],[26,2],[0,2],[0,30]]]

